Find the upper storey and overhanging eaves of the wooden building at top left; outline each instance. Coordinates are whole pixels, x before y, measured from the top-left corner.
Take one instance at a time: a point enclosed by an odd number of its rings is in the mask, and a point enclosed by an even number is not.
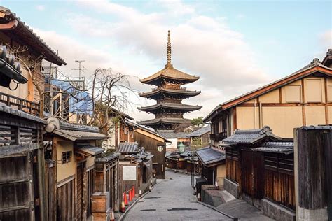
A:
[[[36,86],[32,83],[32,77],[36,79],[41,90],[44,90],[44,76],[41,73],[41,58],[48,62],[61,66],[66,64],[64,60],[57,55],[34,31],[20,20],[20,17],[12,13],[8,8],[0,6],[0,45],[6,45],[8,52],[20,59],[29,58],[34,65],[32,68],[32,76],[29,76],[27,66],[20,64],[22,76],[28,80],[27,84],[16,85],[10,82],[10,88],[17,86],[16,90],[9,90],[8,87],[0,87],[0,94],[8,94],[14,97],[20,97],[32,101],[33,107],[40,101],[40,95]],[[26,47],[26,48],[24,48]],[[25,49],[25,52],[20,52]],[[34,62],[36,61],[36,62]],[[31,65],[31,64],[28,64]],[[39,110],[36,111],[39,113]]]

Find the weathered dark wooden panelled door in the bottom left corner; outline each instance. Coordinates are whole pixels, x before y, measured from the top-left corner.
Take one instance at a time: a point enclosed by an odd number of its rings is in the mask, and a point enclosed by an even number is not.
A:
[[[26,145],[21,148],[27,150]],[[31,152],[0,157],[0,220],[39,220],[35,218],[32,164]]]

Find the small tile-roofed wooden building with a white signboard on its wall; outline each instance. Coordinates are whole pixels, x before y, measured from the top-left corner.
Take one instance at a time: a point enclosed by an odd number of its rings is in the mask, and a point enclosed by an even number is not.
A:
[[[120,143],[119,179],[120,194],[133,186],[135,190],[148,190],[152,178],[153,155],[139,148],[136,142]]]

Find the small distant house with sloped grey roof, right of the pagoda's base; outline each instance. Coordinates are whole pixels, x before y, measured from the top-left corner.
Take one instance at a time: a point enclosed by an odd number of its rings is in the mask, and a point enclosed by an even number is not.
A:
[[[196,131],[193,131],[191,134],[188,134],[188,137],[191,138],[191,150],[195,150],[198,148],[204,148],[210,145],[210,134],[211,127],[205,126]]]

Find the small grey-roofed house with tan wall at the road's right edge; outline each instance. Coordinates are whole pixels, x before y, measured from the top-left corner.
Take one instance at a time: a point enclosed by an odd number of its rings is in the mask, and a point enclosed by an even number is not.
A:
[[[225,153],[213,147],[200,148],[195,151],[198,156],[200,176],[207,180],[207,184],[223,186],[226,177]]]

